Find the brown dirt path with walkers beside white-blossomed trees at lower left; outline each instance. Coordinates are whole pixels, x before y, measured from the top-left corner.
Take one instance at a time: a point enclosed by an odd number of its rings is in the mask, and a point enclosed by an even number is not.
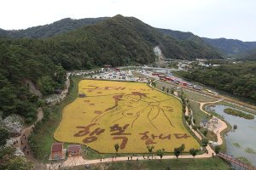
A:
[[[44,112],[43,112],[42,108],[38,108],[37,121],[34,122],[31,126],[23,128],[21,130],[21,135],[15,138],[18,141],[18,143],[15,144],[15,147],[20,147],[20,150],[23,151],[26,158],[28,158],[29,160],[32,160],[32,161],[34,161],[34,158],[32,156],[32,151],[29,146],[27,138],[32,133],[32,130],[35,127],[35,125],[37,124],[37,122],[41,121],[43,119],[43,117],[44,117]]]

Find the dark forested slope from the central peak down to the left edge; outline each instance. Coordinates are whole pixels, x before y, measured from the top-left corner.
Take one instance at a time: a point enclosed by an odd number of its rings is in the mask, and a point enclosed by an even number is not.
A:
[[[0,111],[3,116],[19,113],[31,121],[40,100],[29,92],[27,80],[43,94],[52,94],[63,88],[65,70],[152,63],[155,46],[174,59],[219,57],[121,15],[54,37],[0,38]]]

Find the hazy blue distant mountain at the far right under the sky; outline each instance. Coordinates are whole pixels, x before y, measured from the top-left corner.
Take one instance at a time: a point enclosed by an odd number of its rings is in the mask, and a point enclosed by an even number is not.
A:
[[[242,42],[240,40],[217,38],[211,39],[203,37],[203,40],[213,47],[218,48],[225,55],[244,54],[256,48],[256,42]]]

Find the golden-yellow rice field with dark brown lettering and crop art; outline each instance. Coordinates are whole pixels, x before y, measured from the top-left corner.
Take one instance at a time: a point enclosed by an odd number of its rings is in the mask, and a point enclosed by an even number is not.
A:
[[[183,126],[182,105],[145,83],[83,80],[77,98],[62,112],[55,139],[90,146],[101,153],[147,153],[165,148],[186,151],[200,145]]]

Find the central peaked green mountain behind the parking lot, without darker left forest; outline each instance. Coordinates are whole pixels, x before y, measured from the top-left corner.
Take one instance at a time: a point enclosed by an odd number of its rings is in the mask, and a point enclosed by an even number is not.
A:
[[[215,51],[203,50],[191,42],[177,41],[141,20],[121,15],[49,40],[68,46],[73,53],[85,52],[94,65],[148,64],[155,59],[154,46],[160,46],[163,54],[173,59],[219,58]]]

